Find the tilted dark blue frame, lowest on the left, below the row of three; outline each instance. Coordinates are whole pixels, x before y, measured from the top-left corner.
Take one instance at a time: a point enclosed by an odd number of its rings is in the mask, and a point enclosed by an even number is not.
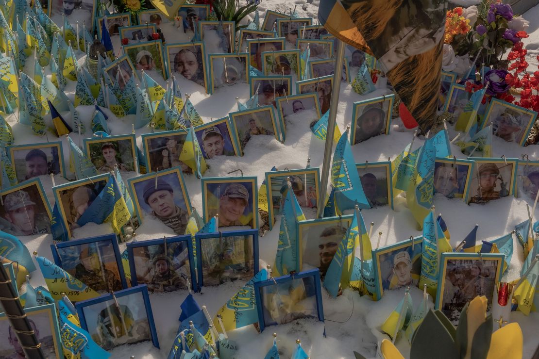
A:
[[[141,284],[141,285],[137,285],[136,287],[131,287],[131,288],[127,288],[118,292],[114,292],[114,297],[116,297],[116,299],[119,299],[119,298],[126,297],[127,295],[131,295],[135,293],[142,294],[144,307],[146,309],[146,316],[147,316],[148,324],[150,327],[149,329],[150,329],[151,341],[153,342],[154,347],[160,348],[159,340],[157,339],[157,332],[155,329],[154,315],[151,311],[150,298],[148,295],[148,288],[146,284]],[[100,304],[106,301],[113,301],[112,305],[114,305],[114,297],[112,294],[103,294],[101,295],[101,297],[98,297],[98,298],[82,300],[75,303],[75,309],[77,309],[77,314],[79,315],[80,325],[82,329],[90,333],[90,330],[88,329],[86,315],[84,313],[84,308],[92,306],[92,305]]]

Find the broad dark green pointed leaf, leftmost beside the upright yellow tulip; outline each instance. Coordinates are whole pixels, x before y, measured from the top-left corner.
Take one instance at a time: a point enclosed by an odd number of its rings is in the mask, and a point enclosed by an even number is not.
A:
[[[414,333],[410,359],[431,358],[433,355],[437,359],[455,359],[458,358],[458,350],[453,336],[431,309]]]

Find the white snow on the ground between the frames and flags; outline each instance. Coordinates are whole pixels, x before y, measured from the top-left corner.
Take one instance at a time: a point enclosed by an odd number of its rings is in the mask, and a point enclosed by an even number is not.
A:
[[[459,0],[460,1],[460,0]],[[300,17],[315,17],[319,0],[304,2],[296,0],[298,4],[296,11]],[[267,9],[281,9],[288,11],[294,3],[284,0],[269,0],[262,2],[259,6],[260,15],[263,16]],[[455,2],[456,3],[456,2]],[[466,2],[468,3],[468,2]],[[252,14],[253,15],[253,14]],[[539,15],[539,6],[529,10],[524,14],[524,18],[534,19]],[[262,23],[263,19],[261,19]],[[245,20],[246,22],[246,20]],[[530,37],[524,39],[529,49],[528,54],[530,68],[537,66],[535,56],[539,54],[536,48],[539,46],[539,29],[537,25],[531,24]],[[177,31],[179,36],[176,39],[167,37],[167,43],[179,43],[186,41],[188,37],[181,31]],[[181,38],[180,38],[181,36]],[[208,34],[214,38],[212,34]],[[117,39],[116,41],[119,41]],[[114,44],[118,52],[119,43]],[[206,53],[219,52],[217,44],[206,44]],[[162,79],[155,80],[161,82]],[[206,95],[202,87],[186,81],[183,78],[177,78],[183,94],[190,94],[190,100],[194,103],[204,122],[212,119],[227,116],[229,112],[236,111],[236,97],[240,101],[246,101],[249,97],[249,87],[247,84],[239,84],[234,87],[220,88],[211,96]],[[295,86],[292,86],[295,89]],[[74,83],[68,85],[66,92],[73,101]],[[351,87],[341,84],[339,105],[337,111],[337,124],[343,132],[346,126],[351,123],[353,103],[355,101],[365,100],[367,98],[389,94],[389,90],[377,89],[373,93],[365,96],[356,94]],[[93,107],[81,106],[78,108],[81,117],[84,118],[86,128],[89,127]],[[110,111],[105,109],[109,115],[108,126],[111,135],[120,135],[130,133],[131,123],[134,116],[127,116],[121,119],[116,118]],[[69,114],[63,114],[67,118]],[[240,168],[245,176],[255,176],[260,185],[265,178],[265,172],[272,166],[280,170],[288,167],[289,169],[304,168],[307,159],[310,158],[312,167],[320,167],[323,160],[324,142],[314,137],[310,132],[305,118],[307,114],[294,114],[287,118],[286,142],[280,143],[273,136],[255,136],[245,148],[244,157],[222,157],[208,160],[209,170],[204,177],[228,177],[227,172]],[[61,140],[64,146],[64,157],[68,163],[68,144],[65,138],[57,139],[49,133],[48,139],[34,136],[31,129],[24,125],[19,125],[15,115],[6,117],[12,125],[15,135],[15,144],[39,143],[46,140]],[[50,121],[50,116],[48,118]],[[374,161],[388,160],[395,158],[404,147],[410,143],[412,132],[402,130],[399,126],[399,120],[394,120],[390,135],[382,135],[371,138],[361,144],[352,147],[356,163],[369,163]],[[135,131],[137,145],[142,148],[141,135],[149,132],[148,128],[141,128]],[[456,133],[450,128],[450,138]],[[79,136],[71,133],[71,138],[76,144],[79,143]],[[83,135],[85,137],[87,135]],[[423,143],[423,138],[416,139],[414,149]],[[535,145],[528,147],[519,147],[513,143],[506,143],[499,138],[494,138],[493,157],[521,158],[521,154],[528,154],[530,159],[536,159],[538,148]],[[460,152],[457,146],[451,146],[452,153],[457,158],[466,158]],[[66,165],[66,168],[68,166]],[[127,180],[134,173],[126,173],[123,176]],[[192,206],[202,213],[202,189],[201,181],[194,176],[185,175],[186,188],[190,196]],[[52,193],[52,182],[47,176],[40,178],[43,183],[47,198],[54,205],[54,196]],[[65,183],[64,178],[55,177],[56,185]],[[321,191],[322,195],[324,191]],[[476,223],[479,224],[478,241],[493,240],[505,235],[514,229],[515,224],[528,219],[526,204],[530,206],[533,202],[525,198],[506,197],[486,205],[466,205],[459,199],[447,199],[441,195],[436,195],[436,212],[442,213],[445,222],[451,232],[451,244],[453,247],[472,230]],[[539,210],[536,211],[537,216]],[[410,236],[420,235],[421,232],[416,227],[412,214],[405,205],[403,197],[397,197],[395,200],[395,210],[388,206],[378,207],[362,211],[365,223],[374,222],[373,233],[382,232],[381,246],[406,240]],[[264,268],[266,264],[273,264],[277,252],[277,241],[279,235],[279,220],[275,223],[274,229],[259,238],[260,267]],[[77,238],[95,236],[110,233],[110,227],[107,224],[97,225],[89,223],[84,227],[74,230],[74,236]],[[163,236],[174,235],[168,227],[156,220],[145,220],[142,226],[136,230],[137,241],[150,240]],[[376,243],[376,236],[373,236],[373,243]],[[30,252],[38,251],[40,256],[52,259],[50,245],[52,238],[50,235],[36,235],[20,237],[26,244]],[[125,243],[120,244],[120,250],[126,248]],[[514,255],[510,264],[508,273],[503,278],[506,281],[514,280],[520,276],[520,268],[523,262],[523,253],[519,244],[514,243]],[[37,265],[37,264],[36,264]],[[39,270],[32,273],[31,284],[33,286],[45,285],[42,274]],[[244,283],[227,283],[218,287],[204,287],[201,293],[195,293],[195,298],[202,306],[208,307],[211,315],[236,293]],[[295,340],[300,339],[302,347],[307,354],[313,358],[353,358],[353,351],[358,351],[365,357],[375,357],[379,343],[386,336],[378,329],[390,312],[396,307],[402,299],[404,290],[385,291],[384,296],[379,301],[372,301],[367,297],[359,297],[356,292],[345,290],[343,295],[338,298],[330,298],[323,290],[323,307],[326,322],[321,323],[312,320],[298,320],[287,325],[268,327],[262,334],[258,334],[253,326],[248,326],[229,332],[231,340],[239,343],[237,357],[241,358],[260,358],[266,354],[273,342],[272,333],[277,333],[278,347],[281,357],[289,357],[295,347]],[[178,316],[180,314],[179,304],[186,296],[186,292],[173,292],[164,294],[151,294],[150,302],[154,313],[157,335],[161,349],[154,348],[150,342],[132,344],[118,347],[112,350],[113,358],[125,358],[135,355],[136,358],[165,358],[167,357],[172,340],[178,327]],[[414,305],[418,305],[423,298],[422,291],[414,287],[411,290]],[[433,306],[432,301],[430,305]],[[536,332],[539,314],[531,313],[524,316],[520,312],[512,312],[510,322],[518,322],[524,333],[524,358],[530,358],[537,346]],[[326,337],[323,336],[324,327]],[[409,356],[410,346],[406,339],[399,339],[396,343],[399,350],[405,357]]]

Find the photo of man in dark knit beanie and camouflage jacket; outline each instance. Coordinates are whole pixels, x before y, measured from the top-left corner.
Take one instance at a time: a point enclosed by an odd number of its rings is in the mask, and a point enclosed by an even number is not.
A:
[[[172,173],[165,176],[170,176],[170,179],[172,179],[172,176],[176,177],[176,174]],[[165,179],[163,177],[158,177],[157,182],[155,178],[150,178],[146,181],[139,182],[137,185],[140,185],[139,188],[142,188],[142,199],[150,207],[151,215],[163,222],[166,226],[172,228],[174,233],[183,235],[189,221],[189,213],[185,208],[180,208],[176,205],[175,201],[175,196],[183,196],[183,194],[175,194],[174,188],[168,182],[168,178]],[[136,189],[136,192],[137,200],[140,201],[141,196],[139,195],[139,190]]]

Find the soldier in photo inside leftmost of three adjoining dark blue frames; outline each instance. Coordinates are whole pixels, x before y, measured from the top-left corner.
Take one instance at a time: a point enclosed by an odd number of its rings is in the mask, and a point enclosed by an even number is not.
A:
[[[75,266],[75,278],[99,293],[121,290],[122,282],[118,275],[100,263],[98,253],[90,245],[80,252],[80,263]]]

